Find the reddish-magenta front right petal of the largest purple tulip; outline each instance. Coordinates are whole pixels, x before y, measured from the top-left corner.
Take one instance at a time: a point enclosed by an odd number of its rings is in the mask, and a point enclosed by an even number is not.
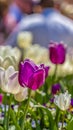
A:
[[[43,69],[37,70],[29,79],[28,87],[36,90],[41,87],[45,82],[45,71]]]

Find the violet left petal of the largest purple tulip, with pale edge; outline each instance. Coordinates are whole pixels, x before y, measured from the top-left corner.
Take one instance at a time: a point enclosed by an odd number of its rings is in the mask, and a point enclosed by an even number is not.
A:
[[[21,86],[28,86],[28,80],[30,76],[34,73],[37,66],[30,60],[25,60],[24,63],[20,63],[19,67],[19,83]]]

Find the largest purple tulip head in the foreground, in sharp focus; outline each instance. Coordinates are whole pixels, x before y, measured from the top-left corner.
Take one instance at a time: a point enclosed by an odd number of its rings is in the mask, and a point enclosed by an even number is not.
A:
[[[19,67],[19,83],[22,87],[27,86],[32,90],[38,89],[45,82],[48,76],[48,67],[44,65],[37,66],[33,61],[26,59],[20,63]]]

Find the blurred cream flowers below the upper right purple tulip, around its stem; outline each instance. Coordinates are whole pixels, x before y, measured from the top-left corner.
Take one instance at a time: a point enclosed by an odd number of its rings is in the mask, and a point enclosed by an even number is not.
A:
[[[49,74],[53,75],[54,71],[55,71],[55,65],[52,64],[51,62],[49,62],[49,65],[50,65]],[[73,63],[71,62],[69,56],[67,55],[65,63],[57,66],[56,75],[58,77],[64,77],[64,76],[70,75],[70,74],[73,74]]]

